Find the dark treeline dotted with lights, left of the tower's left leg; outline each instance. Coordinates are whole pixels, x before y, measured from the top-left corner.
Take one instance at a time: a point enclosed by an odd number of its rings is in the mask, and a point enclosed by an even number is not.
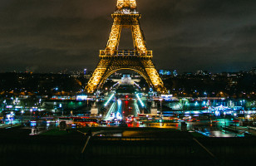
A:
[[[84,88],[87,80],[83,76],[72,77],[60,74],[1,73],[0,93],[17,95],[75,94]]]

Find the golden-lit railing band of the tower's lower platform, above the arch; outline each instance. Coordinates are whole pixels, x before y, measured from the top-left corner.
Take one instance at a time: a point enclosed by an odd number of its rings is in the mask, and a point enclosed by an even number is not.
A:
[[[101,56],[152,56],[153,51],[111,51],[111,50],[101,50]]]

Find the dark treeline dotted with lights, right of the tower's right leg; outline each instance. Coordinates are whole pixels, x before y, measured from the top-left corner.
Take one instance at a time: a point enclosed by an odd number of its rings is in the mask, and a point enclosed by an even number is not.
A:
[[[165,78],[170,94],[189,97],[256,97],[256,76],[176,76]]]

